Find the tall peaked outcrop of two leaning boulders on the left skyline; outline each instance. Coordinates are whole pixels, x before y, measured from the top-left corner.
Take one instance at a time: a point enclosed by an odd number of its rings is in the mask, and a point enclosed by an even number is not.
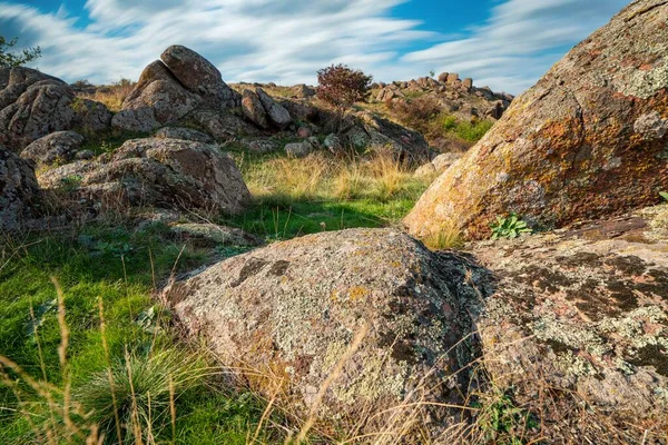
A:
[[[220,72],[195,51],[171,46],[144,69],[112,125],[131,131],[151,131],[177,121],[195,109],[223,110],[240,105]]]

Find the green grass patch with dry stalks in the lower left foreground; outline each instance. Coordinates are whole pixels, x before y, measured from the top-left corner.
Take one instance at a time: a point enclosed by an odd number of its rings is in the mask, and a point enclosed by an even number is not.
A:
[[[208,253],[159,227],[104,225],[3,239],[0,250],[0,443],[246,443],[262,402],[223,385],[151,298]]]

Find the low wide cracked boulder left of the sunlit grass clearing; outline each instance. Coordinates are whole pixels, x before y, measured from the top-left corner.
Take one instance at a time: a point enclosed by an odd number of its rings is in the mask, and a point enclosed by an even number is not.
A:
[[[216,146],[181,139],[132,139],[108,159],[52,169],[40,181],[48,188],[76,186],[82,198],[114,207],[239,214],[250,201],[229,157]]]

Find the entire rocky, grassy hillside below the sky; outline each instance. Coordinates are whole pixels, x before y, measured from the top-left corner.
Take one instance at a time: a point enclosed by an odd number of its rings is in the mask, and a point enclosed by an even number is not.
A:
[[[517,98],[0,67],[0,443],[668,443],[665,3]]]

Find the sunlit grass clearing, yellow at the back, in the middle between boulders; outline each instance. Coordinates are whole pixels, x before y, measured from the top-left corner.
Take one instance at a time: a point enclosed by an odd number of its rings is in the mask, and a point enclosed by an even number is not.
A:
[[[341,160],[322,152],[303,159],[240,154],[237,165],[256,199],[223,222],[268,239],[394,225],[429,187],[387,155]]]

